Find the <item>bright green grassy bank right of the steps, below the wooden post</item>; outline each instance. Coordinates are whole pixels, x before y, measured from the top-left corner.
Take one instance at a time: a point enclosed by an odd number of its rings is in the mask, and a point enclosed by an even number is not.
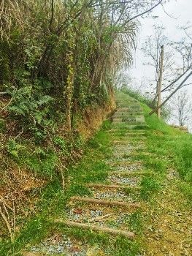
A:
[[[146,159],[145,165],[154,168],[155,171],[165,173],[167,168],[173,168],[179,173],[180,181],[178,188],[185,197],[191,201],[192,195],[192,135],[174,129],[155,114],[149,116],[150,108],[145,104],[146,99],[139,95],[147,123],[147,150],[153,157]],[[148,156],[147,156],[148,157]]]

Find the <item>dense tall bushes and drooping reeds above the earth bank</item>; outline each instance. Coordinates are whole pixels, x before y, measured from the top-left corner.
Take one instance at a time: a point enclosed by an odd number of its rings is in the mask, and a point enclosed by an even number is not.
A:
[[[131,61],[134,21],[125,20],[121,4],[105,1],[3,1],[1,7],[0,86],[7,102],[1,113],[40,140],[58,121],[71,130],[74,113],[103,103],[115,72]]]

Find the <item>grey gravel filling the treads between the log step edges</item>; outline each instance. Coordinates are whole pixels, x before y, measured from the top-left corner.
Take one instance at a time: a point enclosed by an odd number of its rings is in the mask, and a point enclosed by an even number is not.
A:
[[[124,103],[123,103],[124,104]],[[133,107],[133,104],[135,107]],[[128,105],[127,105],[128,107]],[[137,102],[131,102],[131,114],[134,113],[134,110],[140,110],[140,107]],[[120,111],[118,112],[120,113]],[[143,118],[144,119],[144,118]],[[128,124],[128,121],[131,121],[131,127],[133,127],[133,122],[137,123],[136,118],[133,116],[130,120],[125,119],[125,124]],[[120,120],[122,122],[122,120]],[[115,127],[118,127],[118,118],[115,118]],[[120,131],[120,130],[119,130]],[[133,135],[131,136],[131,134]],[[143,150],[145,147],[143,141],[139,145],[137,143],[129,143],[128,138],[131,140],[135,136],[135,130],[128,130],[128,135],[126,136],[127,142],[125,143],[122,140],[118,141],[114,139],[115,143],[112,143],[113,157],[112,159],[106,159],[107,164],[117,164],[112,167],[113,170],[119,172],[134,172],[137,170],[142,170],[142,164],[140,162],[132,162],[131,164],[126,164],[128,161],[133,161],[131,154],[135,151]],[[145,132],[142,132],[142,138],[145,136]],[[138,176],[125,177],[118,175],[110,175],[108,177],[108,184],[120,184],[128,185],[129,187],[134,187],[139,185],[140,178]],[[115,200],[119,202],[128,202],[135,203],[136,201],[131,195],[128,195],[123,191],[123,189],[94,189],[91,188],[93,192],[93,198],[96,200]],[[69,205],[66,208],[66,219],[67,221],[74,223],[84,223],[91,225],[99,225],[100,227],[110,227],[113,229],[121,229],[129,231],[127,227],[128,219],[131,216],[132,211],[135,211],[131,208],[124,209],[123,206],[109,206],[109,205],[99,205],[99,203],[90,204],[90,203],[80,203],[78,201],[69,202]],[[93,248],[91,248],[93,249]],[[41,243],[31,246],[29,248],[30,252],[33,253],[42,253],[43,255],[70,255],[70,256],[96,256],[96,255],[109,255],[104,250],[99,248],[95,249],[94,252],[91,252],[88,244],[83,244],[81,241],[77,241],[73,238],[69,238],[65,234],[55,234],[54,236],[45,239]],[[126,255],[125,255],[126,256]],[[139,255],[138,255],[139,256]]]

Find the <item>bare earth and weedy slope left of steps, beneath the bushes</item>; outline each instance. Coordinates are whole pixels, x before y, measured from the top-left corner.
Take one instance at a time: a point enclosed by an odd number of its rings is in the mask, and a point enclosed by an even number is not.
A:
[[[82,157],[88,138],[114,110],[111,95],[103,105],[93,104],[78,111],[72,132],[66,132],[61,121],[42,141],[20,132],[18,122],[6,116],[0,119],[0,238],[9,233],[13,236],[23,219],[37,211],[39,196],[46,187],[53,183],[65,186],[67,166]]]

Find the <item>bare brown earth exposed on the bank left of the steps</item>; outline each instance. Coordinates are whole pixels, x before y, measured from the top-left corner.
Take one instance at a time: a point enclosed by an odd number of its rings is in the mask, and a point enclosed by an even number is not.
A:
[[[77,123],[77,131],[80,132],[80,135],[85,140],[91,138],[102,122],[114,110],[115,97],[112,95],[105,105],[93,105],[81,114]],[[60,131],[58,131],[58,135],[60,135]],[[17,219],[18,216],[27,217],[28,214],[35,211],[35,203],[39,194],[45,184],[48,183],[46,178],[39,177],[33,171],[28,170],[27,165],[26,167],[21,167],[12,157],[9,157],[6,149],[9,138],[10,133],[0,133],[2,149],[0,152],[0,226],[3,227],[0,229],[0,238],[4,234],[8,234],[8,230],[9,233],[14,233],[14,229],[17,226],[15,225],[15,217]],[[66,167],[66,159],[62,160],[64,161],[62,166]]]

